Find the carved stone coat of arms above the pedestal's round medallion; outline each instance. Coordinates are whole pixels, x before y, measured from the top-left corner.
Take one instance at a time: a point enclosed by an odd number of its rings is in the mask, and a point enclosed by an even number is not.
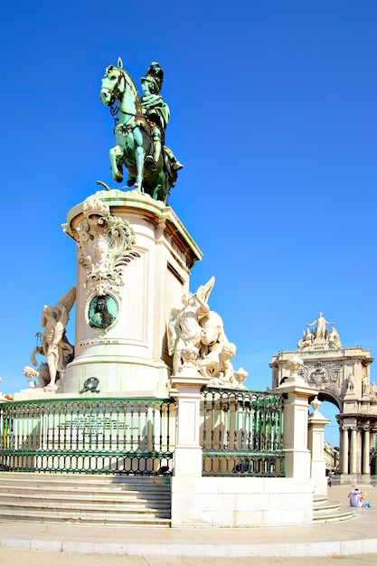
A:
[[[119,295],[123,268],[139,258],[130,250],[135,236],[127,220],[111,216],[107,203],[95,196],[83,205],[85,219],[76,228],[80,265],[87,272],[84,288],[88,295],[104,297],[108,291]]]

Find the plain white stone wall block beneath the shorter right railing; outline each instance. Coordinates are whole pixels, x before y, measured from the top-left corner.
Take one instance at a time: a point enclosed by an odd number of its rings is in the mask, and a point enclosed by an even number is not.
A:
[[[172,477],[173,527],[311,524],[310,480],[280,477]]]

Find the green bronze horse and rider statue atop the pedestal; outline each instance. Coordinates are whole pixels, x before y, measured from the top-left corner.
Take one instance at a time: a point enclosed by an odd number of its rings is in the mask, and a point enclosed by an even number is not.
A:
[[[117,67],[110,65],[105,71],[99,99],[110,107],[116,122],[116,146],[110,149],[114,180],[123,181],[125,165],[128,186],[166,203],[183,165],[164,146],[170,111],[160,96],[163,80],[164,71],[156,61],[152,62],[141,79],[144,96],[140,99],[119,58]]]

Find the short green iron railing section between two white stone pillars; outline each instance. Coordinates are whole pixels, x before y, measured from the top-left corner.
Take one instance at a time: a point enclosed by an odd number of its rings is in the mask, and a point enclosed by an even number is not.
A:
[[[284,476],[283,398],[203,390],[203,476]]]

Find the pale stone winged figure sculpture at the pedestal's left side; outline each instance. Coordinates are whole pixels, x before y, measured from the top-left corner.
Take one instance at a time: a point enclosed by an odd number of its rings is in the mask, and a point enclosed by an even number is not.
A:
[[[36,366],[35,354],[42,354],[46,358],[49,380],[45,389],[52,391],[57,389],[56,380],[61,377],[61,372],[65,369],[67,363],[70,363],[73,359],[73,346],[68,341],[65,329],[75,299],[76,288],[71,288],[68,293],[61,297],[56,307],[48,305],[43,307],[41,326],[43,326],[44,332],[37,333],[37,336],[42,338],[42,345],[36,346],[33,349],[30,359],[33,365]],[[41,364],[38,371],[40,374],[40,384],[47,382],[45,369]],[[24,369],[24,373],[28,376],[27,368]],[[33,377],[38,376],[34,375]]]

